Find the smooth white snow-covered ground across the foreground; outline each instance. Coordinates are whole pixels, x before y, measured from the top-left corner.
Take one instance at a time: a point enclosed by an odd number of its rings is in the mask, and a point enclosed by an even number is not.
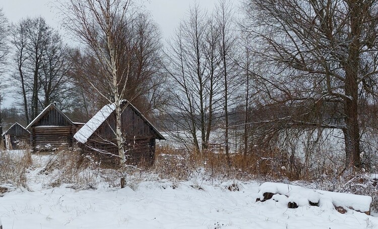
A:
[[[50,156],[35,156],[42,163]],[[46,185],[51,174],[33,167],[28,190],[0,197],[0,218],[8,228],[378,228],[378,218],[333,206],[287,208],[273,199],[256,202],[255,182],[160,180],[131,182],[123,189],[98,183],[74,190],[69,184]],[[231,184],[239,191],[230,191]]]

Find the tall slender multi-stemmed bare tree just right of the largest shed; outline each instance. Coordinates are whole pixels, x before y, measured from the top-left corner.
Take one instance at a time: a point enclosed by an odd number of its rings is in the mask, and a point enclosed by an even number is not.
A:
[[[191,140],[196,151],[208,148],[213,112],[219,109],[218,37],[214,22],[195,5],[180,22],[166,53],[172,79],[168,116],[176,126],[171,129],[180,131],[171,134],[183,143]]]

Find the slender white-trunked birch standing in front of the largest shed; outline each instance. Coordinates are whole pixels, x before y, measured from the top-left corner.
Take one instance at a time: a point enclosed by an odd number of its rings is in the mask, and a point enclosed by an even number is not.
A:
[[[67,5],[66,5],[67,4]],[[121,105],[130,76],[130,39],[124,33],[132,19],[129,0],[70,0],[62,3],[64,25],[83,42],[100,67],[102,82],[111,90],[112,101],[90,78],[86,80],[103,99],[115,105],[115,139],[120,164],[126,162],[121,132]]]

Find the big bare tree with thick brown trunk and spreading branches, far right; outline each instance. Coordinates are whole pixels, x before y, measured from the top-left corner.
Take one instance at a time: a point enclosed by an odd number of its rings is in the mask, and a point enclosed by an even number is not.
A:
[[[377,73],[376,1],[245,1],[265,104],[282,104],[276,128],[341,130],[347,168],[361,167],[359,102]]]

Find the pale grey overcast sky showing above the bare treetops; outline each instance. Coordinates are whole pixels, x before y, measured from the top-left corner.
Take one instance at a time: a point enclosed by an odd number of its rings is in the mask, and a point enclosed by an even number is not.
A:
[[[140,0],[135,0],[141,2]],[[218,0],[198,0],[200,7],[212,11]],[[196,0],[147,0],[145,6],[151,12],[154,21],[160,26],[163,38],[167,39],[177,27],[179,20],[185,17],[191,5]],[[46,22],[60,31],[65,38],[66,32],[59,26],[57,10],[52,8],[56,3],[53,0],[1,0],[0,7],[3,8],[5,16],[10,22],[16,23],[22,18],[42,16]],[[69,38],[66,38],[67,40]],[[3,106],[10,106],[14,98],[8,96]]]

